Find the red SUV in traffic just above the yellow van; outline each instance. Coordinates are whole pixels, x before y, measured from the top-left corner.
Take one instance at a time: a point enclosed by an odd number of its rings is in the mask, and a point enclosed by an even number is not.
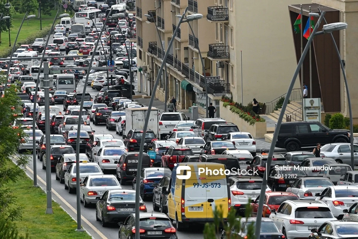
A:
[[[173,169],[175,163],[182,162],[185,156],[194,155],[194,153],[188,146],[170,146],[166,152],[161,155],[161,167]]]

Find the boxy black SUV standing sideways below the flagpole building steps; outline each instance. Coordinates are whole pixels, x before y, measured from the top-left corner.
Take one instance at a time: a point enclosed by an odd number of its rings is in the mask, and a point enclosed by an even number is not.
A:
[[[281,124],[276,147],[297,151],[303,147],[315,147],[329,143],[349,143],[350,131],[329,129],[320,122],[296,121]]]

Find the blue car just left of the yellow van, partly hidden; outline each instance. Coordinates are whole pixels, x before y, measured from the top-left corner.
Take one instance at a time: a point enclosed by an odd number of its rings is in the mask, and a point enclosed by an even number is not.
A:
[[[169,168],[143,168],[140,174],[140,195],[144,197],[151,197],[153,195],[153,183],[158,183],[164,176],[171,177],[171,170]],[[132,183],[132,189],[136,188],[136,177]]]

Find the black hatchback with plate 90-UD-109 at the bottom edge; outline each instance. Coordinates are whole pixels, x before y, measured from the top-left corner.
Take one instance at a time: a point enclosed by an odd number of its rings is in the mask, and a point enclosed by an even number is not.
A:
[[[168,238],[177,239],[176,229],[171,224],[167,215],[160,212],[141,213],[139,219],[139,235],[140,238]],[[124,223],[120,225],[118,235],[119,239],[127,239],[135,237],[135,214],[131,214]]]

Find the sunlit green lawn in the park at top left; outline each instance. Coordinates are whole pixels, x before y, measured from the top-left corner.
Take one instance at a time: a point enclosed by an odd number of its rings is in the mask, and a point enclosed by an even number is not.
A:
[[[48,15],[41,15],[42,18],[42,27],[52,24],[53,19],[57,13],[57,10],[51,10],[51,16]],[[61,14],[61,13],[58,13]],[[5,14],[6,15],[6,14]],[[13,28],[10,28],[10,38],[11,38],[11,47],[15,41],[16,35],[18,34],[18,30],[20,28],[20,24],[22,19],[24,18],[25,14],[16,13],[13,15]],[[31,15],[31,14],[29,14]],[[24,21],[23,26],[21,27],[20,34],[18,37],[18,41],[25,39],[31,33],[40,30],[40,19],[35,18],[29,19],[29,25],[27,25],[27,20]],[[9,47],[9,32],[2,32],[1,33],[1,44],[0,44],[0,51],[6,47]],[[15,49],[16,51],[16,49]]]

